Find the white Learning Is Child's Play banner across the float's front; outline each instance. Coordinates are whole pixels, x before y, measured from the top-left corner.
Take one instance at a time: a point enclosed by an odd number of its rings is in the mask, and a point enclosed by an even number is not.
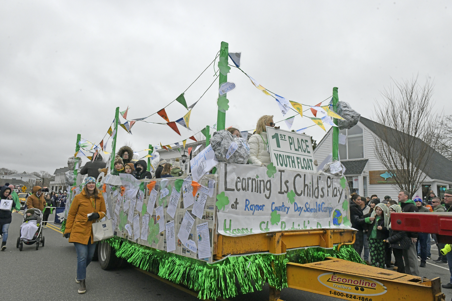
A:
[[[222,235],[351,227],[345,177],[221,163],[218,182]]]

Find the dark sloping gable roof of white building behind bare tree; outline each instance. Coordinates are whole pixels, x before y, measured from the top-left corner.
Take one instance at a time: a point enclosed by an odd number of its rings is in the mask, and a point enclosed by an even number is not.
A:
[[[381,139],[384,140],[387,139],[388,141],[385,140],[386,143],[391,148],[394,148],[395,151],[398,151],[400,149],[400,145],[397,144],[397,140],[393,138],[395,137],[395,135],[383,134],[386,131],[394,132],[395,134],[400,134],[400,131],[387,127],[386,125],[381,125],[380,123],[367,119],[363,116],[359,118],[359,121]],[[426,145],[424,141],[418,138],[415,139],[414,144],[415,148],[417,149],[421,149]],[[452,182],[452,175],[450,174],[450,171],[452,170],[452,161],[438,153],[433,148],[429,146],[428,148],[429,156],[424,160],[428,160],[429,168],[428,170],[424,171],[424,173],[432,179]]]

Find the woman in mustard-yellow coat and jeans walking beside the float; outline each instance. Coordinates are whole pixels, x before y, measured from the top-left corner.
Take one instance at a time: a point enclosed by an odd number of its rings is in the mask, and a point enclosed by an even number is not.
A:
[[[85,179],[85,187],[82,192],[77,194],[72,201],[64,231],[64,237],[74,243],[77,252],[75,282],[80,283],[79,294],[86,292],[86,267],[93,259],[96,249],[92,224],[96,219],[104,218],[105,212],[104,197],[96,187],[96,179],[89,176]]]

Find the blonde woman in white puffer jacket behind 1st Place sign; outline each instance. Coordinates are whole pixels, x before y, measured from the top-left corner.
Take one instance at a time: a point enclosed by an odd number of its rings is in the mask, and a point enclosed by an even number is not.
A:
[[[250,144],[250,159],[251,164],[259,164],[260,166],[267,166],[270,160],[270,153],[268,151],[267,132],[265,126],[274,127],[273,115],[264,115],[257,120],[256,134],[252,135],[248,140]]]

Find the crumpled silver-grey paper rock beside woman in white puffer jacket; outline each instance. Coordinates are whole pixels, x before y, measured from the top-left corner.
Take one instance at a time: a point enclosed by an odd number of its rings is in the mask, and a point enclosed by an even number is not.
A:
[[[245,139],[234,137],[227,130],[213,133],[210,145],[215,152],[215,157],[218,161],[246,164],[250,157],[250,146]]]

